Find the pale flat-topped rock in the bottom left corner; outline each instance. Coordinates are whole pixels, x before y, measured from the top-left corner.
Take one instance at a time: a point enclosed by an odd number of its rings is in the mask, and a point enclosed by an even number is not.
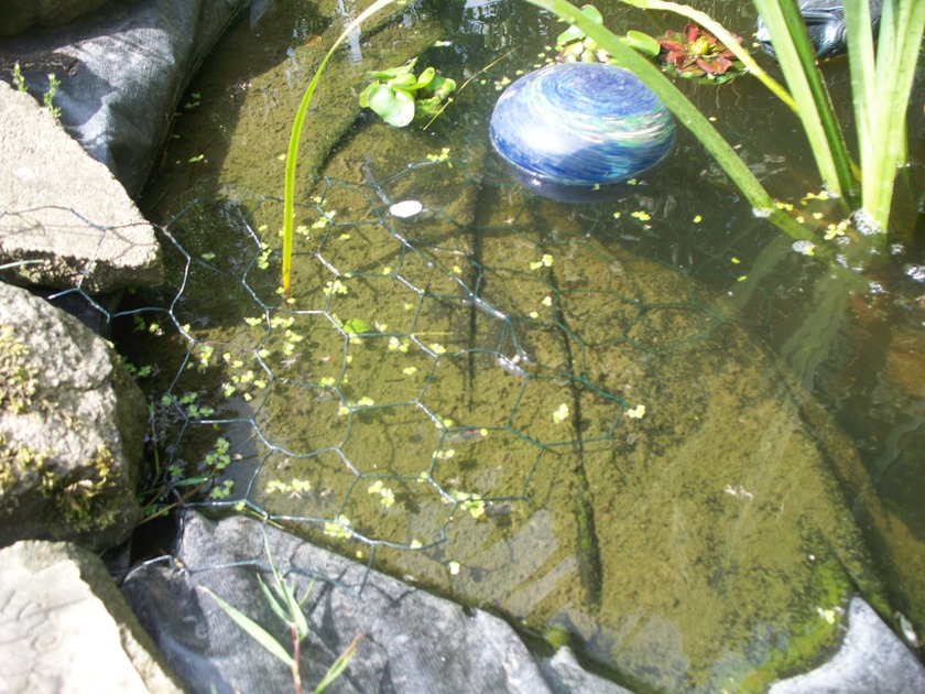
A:
[[[0,563],[0,691],[183,691],[97,556],[24,541]]]

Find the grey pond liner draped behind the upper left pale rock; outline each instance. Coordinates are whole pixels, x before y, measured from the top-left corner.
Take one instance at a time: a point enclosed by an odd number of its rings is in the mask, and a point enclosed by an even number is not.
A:
[[[62,123],[135,197],[191,74],[247,4],[119,0],[68,26],[2,42],[0,58],[17,56],[35,94],[47,90],[48,73],[57,75]]]

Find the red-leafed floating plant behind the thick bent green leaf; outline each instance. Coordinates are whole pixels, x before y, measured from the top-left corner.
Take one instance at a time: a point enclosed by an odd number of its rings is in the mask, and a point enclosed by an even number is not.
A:
[[[738,36],[736,39],[742,42]],[[662,46],[659,59],[666,72],[682,77],[720,83],[743,69],[726,44],[695,24],[687,24],[681,32],[666,31],[659,44]]]

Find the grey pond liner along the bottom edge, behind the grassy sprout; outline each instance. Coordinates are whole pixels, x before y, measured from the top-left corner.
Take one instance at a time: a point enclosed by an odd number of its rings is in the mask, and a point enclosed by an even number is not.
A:
[[[537,663],[497,617],[434,597],[258,521],[237,517],[213,522],[192,511],[184,521],[177,555],[182,565],[225,567],[191,572],[142,565],[129,574],[122,592],[189,691],[292,688],[289,669],[205,590],[255,619],[291,652],[289,632],[257,579],[262,575],[273,583],[266,565],[272,557],[300,598],[308,592],[304,612],[309,636],[302,652],[309,655],[301,664],[309,687],[359,636],[356,657],[336,682],[339,692],[625,692],[584,671],[567,649]],[[253,563],[258,561],[260,566]]]

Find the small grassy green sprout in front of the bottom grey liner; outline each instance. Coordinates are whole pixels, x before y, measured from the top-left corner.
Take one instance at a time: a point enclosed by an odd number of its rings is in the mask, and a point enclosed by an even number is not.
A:
[[[255,620],[248,617],[237,607],[230,605],[227,600],[219,597],[205,586],[203,586],[203,590],[205,590],[206,594],[218,604],[222,611],[228,615],[236,625],[243,629],[251,639],[257,641],[263,649],[266,650],[266,652],[276,658],[276,660],[289,666],[292,672],[293,691],[296,694],[302,694],[301,647],[302,642],[309,633],[308,620],[305,618],[305,614],[302,611],[302,608],[312,593],[314,581],[305,590],[305,595],[302,596],[302,599],[297,599],[295,589],[285,582],[282,574],[280,574],[279,568],[276,568],[276,565],[273,563],[273,557],[270,554],[270,545],[265,538],[264,547],[272,574],[272,583],[268,585],[260,574],[258,574],[257,579],[260,584],[260,590],[263,594],[264,600],[273,610],[273,614],[282,620],[289,630],[292,653],[290,653],[285,646],[278,641],[273,635],[266,631]],[[338,655],[337,660],[335,660],[331,666],[328,668],[325,676],[313,690],[315,694],[324,692],[328,685],[339,677],[347,669],[347,665],[350,664],[350,661],[357,652],[357,646],[361,638],[362,637],[357,636],[344,650],[344,652]]]

